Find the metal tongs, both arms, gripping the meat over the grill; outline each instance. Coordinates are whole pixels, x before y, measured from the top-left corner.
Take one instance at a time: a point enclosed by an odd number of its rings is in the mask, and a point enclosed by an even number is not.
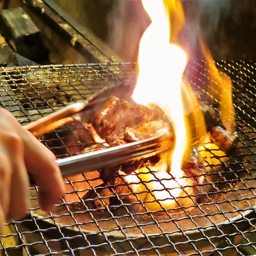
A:
[[[111,95],[116,97],[131,95],[131,90],[125,85],[103,88],[99,93],[87,100],[65,106],[39,120],[24,125],[24,128],[31,131],[36,137],[39,137],[46,132],[57,129],[74,120],[90,122],[95,111]],[[104,150],[58,159],[56,163],[58,163],[63,177],[69,177],[79,173],[86,173],[88,171],[100,170],[109,166],[135,161],[136,159],[152,157],[160,152],[169,150],[172,145],[170,143],[172,139],[168,135],[152,136],[151,138],[127,143],[126,145],[109,147]]]

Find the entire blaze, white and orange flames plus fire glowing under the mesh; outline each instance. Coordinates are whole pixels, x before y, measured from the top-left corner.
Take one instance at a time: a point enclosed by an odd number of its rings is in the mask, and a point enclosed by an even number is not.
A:
[[[186,54],[173,44],[177,43],[177,35],[184,25],[181,1],[142,0],[142,3],[152,23],[141,38],[133,99],[139,104],[156,104],[165,111],[175,131],[175,147],[173,152],[166,154],[169,159],[154,166],[154,173],[140,169],[136,175],[128,175],[126,179],[132,182],[131,186],[136,191],[150,191],[138,195],[149,209],[170,208],[177,206],[175,198],[182,194],[182,186],[187,182],[182,171],[187,153],[191,145],[200,147],[204,143],[207,130],[198,99],[191,85],[182,77]],[[223,125],[233,131],[231,80],[218,71],[202,38],[200,45],[212,74],[212,84],[207,93],[221,102]],[[170,179],[170,174],[174,179]],[[184,203],[193,204],[190,198]]]

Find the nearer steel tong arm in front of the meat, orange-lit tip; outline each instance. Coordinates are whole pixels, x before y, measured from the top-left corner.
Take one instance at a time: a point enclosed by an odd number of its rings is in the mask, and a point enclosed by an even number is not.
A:
[[[104,150],[80,154],[74,157],[58,159],[56,162],[61,168],[63,177],[79,173],[100,170],[109,166],[135,161],[141,158],[152,157],[173,147],[173,137],[166,135],[146,138],[142,141],[127,143]]]

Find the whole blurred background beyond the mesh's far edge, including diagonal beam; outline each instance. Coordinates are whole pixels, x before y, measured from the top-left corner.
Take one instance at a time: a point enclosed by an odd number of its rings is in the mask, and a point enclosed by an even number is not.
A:
[[[35,63],[134,62],[150,24],[140,0],[1,0],[21,6],[42,34],[47,53]],[[181,42],[198,54],[198,31],[214,60],[256,59],[256,1],[182,0],[186,28]],[[0,33],[6,38],[6,31]],[[6,40],[8,42],[8,39]],[[11,47],[12,48],[12,47]],[[24,56],[26,57],[26,56]],[[6,65],[6,63],[1,63]]]

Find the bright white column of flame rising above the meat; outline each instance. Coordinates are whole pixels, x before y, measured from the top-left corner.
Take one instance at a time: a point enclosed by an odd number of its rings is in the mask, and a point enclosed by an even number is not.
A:
[[[173,123],[176,142],[171,169],[179,172],[175,176],[180,176],[188,141],[181,94],[186,54],[180,47],[170,43],[170,10],[166,8],[166,3],[168,1],[143,1],[152,23],[141,38],[139,74],[133,99],[139,104],[154,103],[160,106]]]

